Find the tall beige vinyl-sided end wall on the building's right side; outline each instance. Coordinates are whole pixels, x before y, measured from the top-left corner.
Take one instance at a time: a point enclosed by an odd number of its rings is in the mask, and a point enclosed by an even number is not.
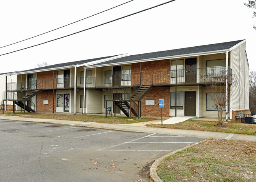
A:
[[[232,50],[232,74],[237,84],[232,87],[232,110],[249,109],[249,67],[245,55],[245,43]]]

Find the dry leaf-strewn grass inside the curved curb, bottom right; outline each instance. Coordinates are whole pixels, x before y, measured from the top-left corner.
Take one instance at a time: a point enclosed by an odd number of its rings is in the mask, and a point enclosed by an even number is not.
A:
[[[164,182],[256,181],[256,142],[210,139],[165,158]]]

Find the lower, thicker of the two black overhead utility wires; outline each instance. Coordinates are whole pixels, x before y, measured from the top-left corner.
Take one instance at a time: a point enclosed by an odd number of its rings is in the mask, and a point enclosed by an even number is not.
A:
[[[83,31],[87,31],[87,30],[89,30],[89,29],[93,29],[93,28],[96,28],[96,27],[99,27],[99,26],[102,26],[102,25],[105,25],[105,24],[109,24],[109,23],[111,23],[111,22],[115,22],[115,21],[117,21],[117,20],[121,20],[121,19],[126,18],[126,17],[128,17],[128,16],[136,15],[136,14],[141,13],[141,12],[143,12],[143,11],[147,11],[147,10],[149,10],[149,9],[153,9],[153,8],[155,8],[155,7],[158,7],[158,6],[161,6],[161,5],[164,5],[164,4],[173,2],[173,1],[175,1],[175,0],[171,0],[171,1],[168,1],[168,2],[165,2],[165,3],[162,3],[162,4],[158,4],[158,5],[155,5],[155,6],[153,6],[153,7],[149,7],[149,8],[147,8],[147,9],[144,9],[144,10],[141,10],[141,11],[137,11],[136,13],[132,13],[132,14],[130,14],[130,15],[122,16],[121,18],[117,18],[117,19],[115,19],[115,20],[111,20],[111,21],[109,21],[109,22],[105,22],[105,23],[103,23],[103,24],[99,24],[99,25],[96,25],[96,26],[93,26],[93,27],[90,27],[90,28],[87,28],[87,29],[84,29],[84,30],[81,30],[81,31],[78,31],[78,32],[75,32],[75,33],[72,33],[72,34],[69,34],[69,35],[65,35],[65,36],[62,36],[62,37],[53,39],[53,40],[49,40],[49,41],[43,42],[43,43],[41,43],[41,44],[36,44],[36,45],[32,45],[32,46],[30,46],[30,47],[26,47],[26,48],[23,48],[23,49],[19,49],[19,50],[16,50],[16,51],[12,51],[12,52],[9,52],[9,53],[5,53],[5,54],[2,54],[2,55],[0,55],[0,56],[7,55],[7,54],[10,54],[10,53],[15,53],[15,52],[18,52],[18,51],[22,51],[22,50],[24,50],[24,49],[28,49],[28,48],[35,47],[35,46],[38,46],[38,45],[46,44],[46,43],[48,43],[48,42],[52,42],[52,41],[55,41],[55,40],[58,40],[58,39],[61,39],[61,38],[65,38],[65,37],[67,37],[67,36],[71,36],[71,35],[74,35],[74,34],[77,34],[77,33],[81,33],[81,32],[83,32]]]

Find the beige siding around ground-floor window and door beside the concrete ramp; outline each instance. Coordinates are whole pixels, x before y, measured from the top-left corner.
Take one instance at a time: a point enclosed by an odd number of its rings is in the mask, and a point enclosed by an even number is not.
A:
[[[196,91],[196,95],[197,95],[198,86],[177,87],[177,92],[186,92],[186,91]],[[171,94],[171,92],[175,92],[175,87],[170,87],[170,94]],[[171,98],[171,95],[170,95],[170,98]],[[199,103],[200,103],[200,100],[201,100],[201,98],[199,97]],[[169,102],[171,102],[171,100],[169,100]],[[198,101],[197,101],[197,98],[196,98],[196,115],[198,113],[197,102]],[[185,93],[183,94],[183,109],[177,109],[177,116],[184,116],[184,115],[185,115]],[[175,116],[175,109],[170,109],[170,116]]]

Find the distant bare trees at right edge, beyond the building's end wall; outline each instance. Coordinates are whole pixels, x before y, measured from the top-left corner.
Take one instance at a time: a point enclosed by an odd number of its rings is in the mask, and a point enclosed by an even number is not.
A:
[[[250,71],[249,75],[250,84],[250,111],[252,114],[256,114],[256,71]]]

